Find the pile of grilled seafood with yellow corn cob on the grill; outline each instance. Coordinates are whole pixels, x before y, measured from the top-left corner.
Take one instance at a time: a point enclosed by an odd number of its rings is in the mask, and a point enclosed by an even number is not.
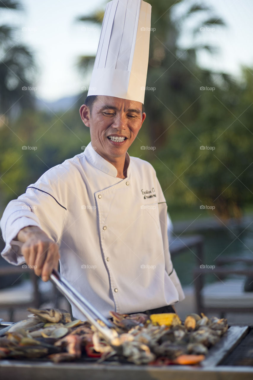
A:
[[[48,358],[55,363],[82,356],[98,362],[126,359],[134,364],[198,364],[227,331],[227,320],[174,313],[146,315],[110,312],[110,343],[89,322],[71,321],[66,310],[29,308],[28,319],[0,334],[0,359]],[[103,326],[103,322],[98,320]]]

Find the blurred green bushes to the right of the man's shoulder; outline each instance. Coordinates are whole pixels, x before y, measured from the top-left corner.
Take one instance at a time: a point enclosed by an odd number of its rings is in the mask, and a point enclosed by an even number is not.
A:
[[[138,137],[155,149],[141,150],[136,141],[131,154],[155,167],[169,209],[195,211],[204,205],[223,219],[240,218],[252,203],[252,71],[244,69],[243,83],[224,88],[215,82],[215,90],[200,91],[199,111],[184,125],[168,124],[160,146],[147,138],[152,128],[147,117]]]

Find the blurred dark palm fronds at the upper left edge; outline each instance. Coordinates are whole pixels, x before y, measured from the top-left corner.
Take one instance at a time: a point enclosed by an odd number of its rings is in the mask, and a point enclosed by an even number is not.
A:
[[[2,0],[1,10],[20,11],[19,2]],[[0,25],[0,114],[10,116],[17,109],[33,107],[34,95],[24,88],[32,87],[35,63],[32,52],[23,44],[18,44],[15,29]],[[2,116],[3,121],[3,116]]]

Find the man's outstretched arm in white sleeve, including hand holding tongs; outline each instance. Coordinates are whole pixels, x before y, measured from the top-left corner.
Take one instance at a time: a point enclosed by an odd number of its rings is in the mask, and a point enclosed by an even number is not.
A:
[[[9,202],[0,226],[6,243],[3,258],[14,265],[26,262],[36,266],[35,273],[46,281],[58,266],[66,207],[59,204],[52,188],[46,192],[44,185],[43,189],[27,188],[26,193]]]

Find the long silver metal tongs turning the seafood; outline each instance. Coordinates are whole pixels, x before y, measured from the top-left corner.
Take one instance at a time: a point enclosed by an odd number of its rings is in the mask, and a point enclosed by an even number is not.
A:
[[[87,299],[85,299],[70,283],[60,275],[58,271],[53,269],[50,280],[57,289],[68,298],[73,304],[83,313],[87,320],[103,335],[104,339],[110,343],[111,340],[117,337],[117,332],[111,328],[114,324],[106,319]],[[88,311],[89,309],[90,311]],[[101,326],[92,316],[92,312],[100,319],[105,326]]]

